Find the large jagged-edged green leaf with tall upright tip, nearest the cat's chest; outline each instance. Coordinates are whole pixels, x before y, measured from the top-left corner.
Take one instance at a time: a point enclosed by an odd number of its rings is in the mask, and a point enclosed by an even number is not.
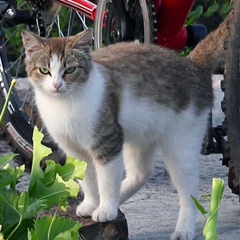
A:
[[[49,160],[45,171],[42,171],[40,162],[51,153],[50,148],[41,144],[42,138],[43,135],[35,127],[29,194],[33,198],[45,199],[49,207],[53,204],[64,207],[67,197],[76,197],[79,193],[79,184],[74,179],[83,179],[86,164],[71,157],[67,158],[64,166]]]

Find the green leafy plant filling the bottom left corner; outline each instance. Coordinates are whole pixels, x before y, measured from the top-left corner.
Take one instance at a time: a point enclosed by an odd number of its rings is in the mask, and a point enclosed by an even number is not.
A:
[[[27,192],[16,190],[24,166],[10,167],[8,163],[15,157],[14,154],[0,157],[0,167],[3,167],[0,170],[0,239],[1,236],[7,240],[79,239],[80,224],[56,215],[38,219],[37,214],[52,206],[66,209],[67,198],[76,197],[79,192],[79,185],[74,179],[83,178],[86,164],[69,157],[64,166],[47,161],[43,171],[40,162],[51,150],[41,144],[42,138],[43,135],[35,128],[34,157]],[[44,226],[48,226],[48,231],[44,231]]]

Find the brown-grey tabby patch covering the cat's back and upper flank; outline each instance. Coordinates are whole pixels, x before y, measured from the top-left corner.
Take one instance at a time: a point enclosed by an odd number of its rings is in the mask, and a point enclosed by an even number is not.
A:
[[[167,48],[137,43],[117,43],[92,53],[110,82],[132,89],[135,96],[157,102],[175,102],[177,109],[195,102],[199,109],[213,101],[211,73]]]

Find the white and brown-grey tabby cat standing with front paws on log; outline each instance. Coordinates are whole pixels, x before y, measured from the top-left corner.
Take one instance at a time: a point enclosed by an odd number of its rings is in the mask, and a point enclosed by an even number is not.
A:
[[[41,38],[23,31],[26,70],[40,116],[67,155],[87,162],[78,216],[117,217],[152,174],[161,149],[180,197],[172,240],[194,237],[199,154],[213,104],[211,71],[225,23],[189,58],[119,43],[91,52],[92,32]],[[207,44],[206,44],[207,41]]]

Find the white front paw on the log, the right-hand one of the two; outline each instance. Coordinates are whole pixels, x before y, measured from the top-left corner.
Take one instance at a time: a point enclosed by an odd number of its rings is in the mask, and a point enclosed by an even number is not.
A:
[[[95,222],[107,222],[112,221],[117,218],[118,209],[106,209],[102,207],[98,207],[92,213],[92,220]]]

